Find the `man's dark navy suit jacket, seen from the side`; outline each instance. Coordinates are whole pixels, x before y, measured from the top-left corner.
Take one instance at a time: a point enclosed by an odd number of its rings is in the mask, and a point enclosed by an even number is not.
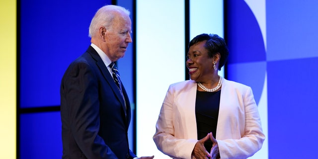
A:
[[[69,66],[60,90],[63,159],[136,157],[129,149],[131,110],[123,85],[122,89],[127,111],[111,74],[91,46]]]

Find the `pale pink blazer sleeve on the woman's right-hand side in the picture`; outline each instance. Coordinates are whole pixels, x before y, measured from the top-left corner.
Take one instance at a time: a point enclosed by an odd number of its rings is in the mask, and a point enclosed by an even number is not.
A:
[[[221,159],[246,159],[251,157],[261,149],[265,140],[251,88],[247,87],[237,96],[239,105],[242,105],[242,111],[239,111],[242,115],[239,117],[238,125],[232,126],[232,131],[240,132],[240,134],[232,134],[232,139],[217,139]],[[242,98],[239,96],[242,96]],[[231,125],[231,123],[228,123],[228,125]]]

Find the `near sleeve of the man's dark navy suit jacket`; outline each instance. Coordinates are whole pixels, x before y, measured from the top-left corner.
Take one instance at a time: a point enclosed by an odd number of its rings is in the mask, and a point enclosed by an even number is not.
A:
[[[80,62],[70,68],[64,79],[64,94],[71,121],[71,133],[88,159],[117,159],[98,136],[98,81],[92,67]]]

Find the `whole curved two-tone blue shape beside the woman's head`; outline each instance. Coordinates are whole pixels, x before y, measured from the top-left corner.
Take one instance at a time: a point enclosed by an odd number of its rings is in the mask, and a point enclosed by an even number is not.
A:
[[[266,51],[260,27],[244,0],[229,0],[227,13],[226,40],[230,51],[227,78],[250,86],[258,104],[266,73]]]

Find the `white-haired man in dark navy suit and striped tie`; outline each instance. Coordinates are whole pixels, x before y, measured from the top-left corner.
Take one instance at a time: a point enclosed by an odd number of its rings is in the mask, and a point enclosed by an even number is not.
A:
[[[101,7],[89,26],[91,45],[63,76],[63,159],[137,159],[128,144],[128,95],[112,70],[132,42],[129,14],[121,6]]]

